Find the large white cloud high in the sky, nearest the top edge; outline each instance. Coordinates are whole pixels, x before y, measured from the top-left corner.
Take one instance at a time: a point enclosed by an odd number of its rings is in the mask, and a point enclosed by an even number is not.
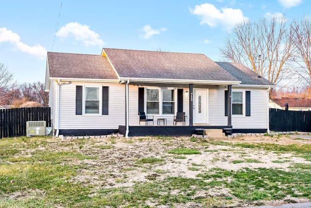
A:
[[[235,24],[248,20],[248,17],[244,17],[240,9],[221,8],[219,10],[209,3],[195,5],[193,10],[190,8],[190,12],[193,15],[202,17],[200,24],[207,24],[210,27],[222,25],[225,27],[225,30],[230,30]]]

